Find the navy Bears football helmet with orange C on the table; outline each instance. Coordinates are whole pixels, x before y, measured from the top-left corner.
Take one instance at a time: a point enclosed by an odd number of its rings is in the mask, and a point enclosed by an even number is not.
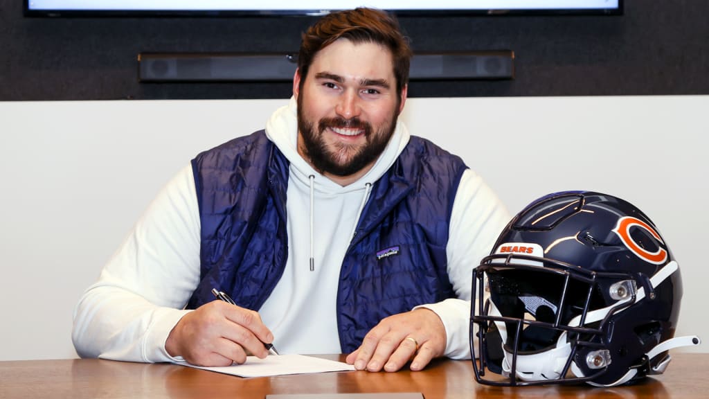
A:
[[[618,386],[700,343],[674,337],[682,281],[657,227],[611,195],[558,192],[527,205],[474,269],[472,289],[479,383]]]

